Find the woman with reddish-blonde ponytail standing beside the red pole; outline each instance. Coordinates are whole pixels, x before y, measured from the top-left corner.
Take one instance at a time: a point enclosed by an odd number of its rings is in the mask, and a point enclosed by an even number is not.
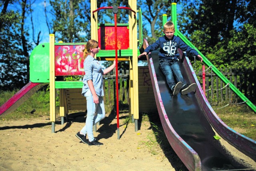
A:
[[[80,132],[76,134],[83,143],[88,145],[103,145],[98,142],[93,135],[92,127],[94,124],[105,118],[103,75],[109,73],[116,66],[116,62],[106,68],[104,71],[95,54],[100,50],[96,40],[89,40],[85,45],[84,52],[84,71],[82,94],[86,97],[87,117],[86,124]],[[88,140],[86,139],[88,135]]]

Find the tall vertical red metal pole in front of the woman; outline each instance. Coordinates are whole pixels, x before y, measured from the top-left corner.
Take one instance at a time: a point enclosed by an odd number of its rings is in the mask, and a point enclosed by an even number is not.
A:
[[[116,46],[116,117],[117,117],[117,129],[119,129],[119,103],[118,103],[118,59],[117,59],[117,21],[115,16],[115,46]]]

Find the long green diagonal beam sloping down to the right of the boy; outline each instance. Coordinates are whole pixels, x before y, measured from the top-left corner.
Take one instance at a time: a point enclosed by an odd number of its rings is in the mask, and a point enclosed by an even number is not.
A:
[[[178,33],[178,36],[190,47],[196,49],[196,47],[178,30],[176,30],[176,33]],[[198,51],[198,49],[196,49],[196,51]],[[240,90],[238,90],[238,88],[236,88],[236,86],[234,86],[214,65],[212,65],[212,63],[200,52],[198,51],[198,53],[202,56],[203,58],[203,62],[208,66],[212,66],[212,71],[225,83],[228,84],[231,88],[231,90],[233,90],[234,93],[236,93],[242,100],[247,101],[246,104],[252,108],[252,110],[254,110],[254,112],[256,112],[256,106],[246,97],[244,96],[244,94],[242,92],[240,92]]]

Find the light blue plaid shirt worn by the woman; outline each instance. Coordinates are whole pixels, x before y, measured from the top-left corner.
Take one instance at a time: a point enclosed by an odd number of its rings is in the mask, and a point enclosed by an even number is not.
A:
[[[88,89],[88,80],[92,80],[95,92],[98,96],[104,96],[103,91],[103,70],[97,59],[88,55],[84,60],[84,78],[83,78],[83,88],[82,94],[84,94]]]

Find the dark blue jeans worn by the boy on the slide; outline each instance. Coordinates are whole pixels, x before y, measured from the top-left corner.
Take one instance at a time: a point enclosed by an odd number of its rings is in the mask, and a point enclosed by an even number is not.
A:
[[[174,77],[177,82],[182,82],[183,86],[186,84],[183,79],[183,76],[180,72],[180,66],[178,63],[178,59],[176,59],[176,60],[160,59],[159,67],[162,70],[162,72],[164,73],[164,75],[166,77],[166,82],[171,90],[176,85]]]

